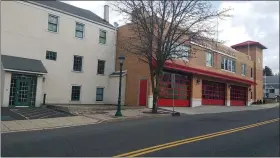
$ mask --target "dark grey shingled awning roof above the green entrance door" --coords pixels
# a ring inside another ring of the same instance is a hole
[[[4,70],[29,71],[33,73],[47,73],[41,60],[1,55]]]

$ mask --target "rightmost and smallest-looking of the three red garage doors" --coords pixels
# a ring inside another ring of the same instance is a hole
[[[230,88],[230,105],[231,106],[245,106],[247,88],[231,85]]]

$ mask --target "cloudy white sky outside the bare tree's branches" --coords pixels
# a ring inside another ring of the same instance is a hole
[[[88,9],[103,18],[105,1],[67,1],[66,3]],[[233,15],[219,22],[219,40],[227,46],[247,40],[257,41],[268,49],[263,51],[264,66],[279,72],[279,2],[278,1],[217,1],[213,6],[231,7]],[[123,24],[122,17],[110,10],[110,23]]]

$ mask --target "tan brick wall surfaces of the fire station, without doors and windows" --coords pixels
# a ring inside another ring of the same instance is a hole
[[[118,57],[120,54],[123,54],[126,57],[126,60],[124,62],[124,70],[127,70],[127,83],[126,83],[126,105],[138,105],[138,95],[139,95],[139,80],[140,79],[147,79],[148,80],[148,96],[152,95],[151,90],[151,83],[150,83],[150,75],[149,75],[149,66],[147,63],[139,60],[139,58],[135,55],[132,55],[131,53],[126,52],[124,49],[121,49],[119,46],[127,46],[126,40],[128,40],[129,37],[132,37],[134,33],[129,30],[129,25],[125,25],[119,28],[118,30],[118,36],[117,36],[117,55]],[[137,42],[137,41],[135,41]],[[176,64],[185,65],[187,67],[194,67],[199,68],[203,70],[208,70],[212,72],[217,72],[220,74],[224,74],[227,76],[237,77],[240,79],[247,79],[247,80],[255,80],[257,82],[256,86],[252,86],[252,92],[253,92],[253,99],[256,98],[261,99],[262,98],[262,51],[261,49],[251,47],[249,55],[248,49],[241,48],[240,50],[242,52],[235,51],[234,58],[236,59],[236,73],[228,72],[221,70],[221,59],[222,54],[212,52],[214,54],[214,65],[213,67],[206,66],[206,50],[199,46],[192,45],[192,49],[196,50],[195,54],[189,58],[189,61],[187,63],[183,62],[182,60],[177,60]],[[257,56],[261,56],[261,63],[257,64],[255,61],[257,60]],[[230,57],[229,57],[230,58]],[[117,59],[116,59],[117,60]],[[246,64],[246,75],[241,75],[241,64]],[[251,68],[253,68],[253,78],[251,77]],[[119,63],[118,60],[116,61],[116,70],[119,70]],[[196,77],[200,78],[200,84],[196,83]],[[217,78],[209,78],[205,76],[193,76],[192,79],[192,97],[193,98],[201,98],[202,96],[202,79],[207,80],[213,80],[213,81],[221,81],[223,83],[227,84],[237,84],[240,86],[246,86],[245,84],[240,84],[236,82],[228,82],[223,80],[217,80]],[[248,92],[248,100],[251,98],[250,92]],[[230,95],[227,90],[227,96]],[[148,98],[148,97],[147,97]]]

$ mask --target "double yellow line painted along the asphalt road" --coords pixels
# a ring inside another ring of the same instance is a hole
[[[196,142],[196,141],[200,141],[200,140],[204,140],[204,139],[209,139],[209,138],[213,138],[213,137],[217,137],[217,136],[221,136],[221,135],[225,135],[225,134],[242,131],[245,129],[265,125],[268,123],[273,123],[276,121],[279,121],[279,118],[268,120],[268,121],[263,121],[263,122],[259,122],[259,123],[255,123],[255,124],[251,124],[251,125],[246,125],[246,126],[242,126],[242,127],[237,127],[237,128],[233,128],[233,129],[229,129],[229,130],[224,130],[224,131],[220,131],[220,132],[215,132],[215,133],[210,133],[210,134],[201,135],[201,136],[197,136],[197,137],[178,140],[178,141],[165,143],[165,144],[161,144],[161,145],[156,145],[156,146],[120,154],[115,157],[136,157],[136,156],[148,154],[148,153],[155,152],[155,151],[159,151],[159,150],[163,150],[163,149],[167,149],[167,148],[171,148],[171,147],[175,147],[175,146],[179,146],[179,145],[183,145],[183,144],[188,144],[191,142]]]

